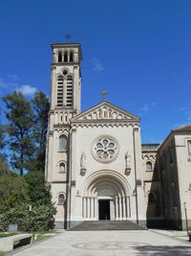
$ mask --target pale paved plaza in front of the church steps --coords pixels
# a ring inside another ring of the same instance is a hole
[[[149,230],[65,231],[16,256],[191,255],[191,244]]]

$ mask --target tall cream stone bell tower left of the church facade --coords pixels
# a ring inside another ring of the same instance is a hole
[[[46,179],[52,192],[57,180],[67,183],[71,141],[70,120],[80,112],[82,59],[79,43],[53,43],[51,107],[46,151]],[[65,186],[64,185],[64,186]],[[62,191],[66,191],[62,187]]]

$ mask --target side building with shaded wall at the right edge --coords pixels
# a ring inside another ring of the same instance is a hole
[[[172,130],[158,151],[165,225],[191,226],[191,126]]]

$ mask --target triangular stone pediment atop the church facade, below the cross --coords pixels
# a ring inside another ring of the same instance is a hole
[[[101,104],[93,106],[88,110],[81,112],[76,115],[71,121],[96,121],[96,120],[114,120],[114,121],[135,121],[138,122],[138,116],[133,115],[132,113],[117,107],[116,105],[110,104],[106,101],[103,101]]]

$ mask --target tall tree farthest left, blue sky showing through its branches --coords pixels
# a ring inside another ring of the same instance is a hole
[[[32,107],[21,92],[14,91],[11,95],[3,97],[3,101],[7,107],[6,116],[9,121],[7,131],[10,135],[8,142],[12,151],[11,165],[23,175],[24,170],[29,167],[34,150]]]

